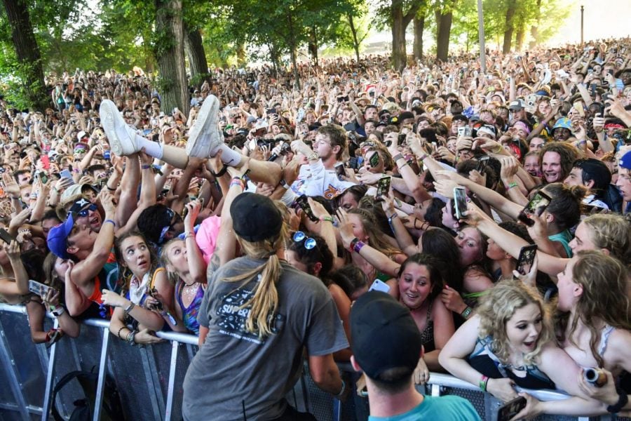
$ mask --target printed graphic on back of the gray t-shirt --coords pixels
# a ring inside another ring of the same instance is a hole
[[[258,275],[257,283],[248,283],[246,286],[243,286],[243,288],[232,290],[219,298],[219,305],[217,307],[217,317],[219,318],[217,326],[219,326],[219,333],[230,335],[240,340],[254,342],[259,345],[265,342],[265,337],[259,338],[257,333],[248,332],[245,328],[245,323],[247,322],[247,317],[250,316],[252,306],[247,305],[244,307],[244,305],[246,302],[250,301],[255,294],[255,291],[246,288],[248,286],[258,285],[259,281],[261,281],[261,274]],[[278,333],[285,323],[285,316],[282,314],[276,314],[276,316],[270,314],[268,319],[273,334]]]

